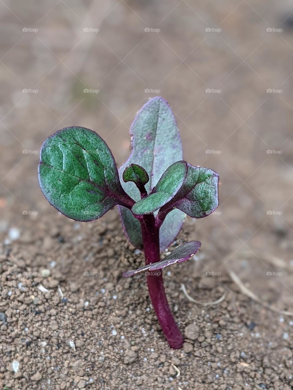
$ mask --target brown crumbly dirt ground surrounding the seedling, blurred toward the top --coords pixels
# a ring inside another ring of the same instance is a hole
[[[293,388],[293,317],[228,273],[293,311],[291,12],[285,0],[0,2],[0,388]],[[197,259],[164,271],[186,338],[178,351],[144,276],[121,276],[143,257],[117,211],[71,221],[36,174],[43,139],[72,125],[97,131],[122,164],[134,114],[155,95],[147,88],[171,103],[186,160],[221,181],[219,213],[187,219],[178,239],[202,242]],[[192,303],[181,284],[198,301],[225,299]]]

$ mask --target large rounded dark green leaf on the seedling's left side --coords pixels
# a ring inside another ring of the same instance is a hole
[[[82,127],[59,130],[45,140],[39,183],[57,210],[78,221],[100,218],[116,204],[133,204],[121,187],[110,149]]]

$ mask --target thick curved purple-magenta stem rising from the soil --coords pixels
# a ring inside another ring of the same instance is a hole
[[[159,228],[155,226],[154,215],[144,215],[139,220],[145,250],[145,264],[158,262],[160,261],[160,239]],[[162,270],[160,269],[156,273],[159,273],[159,275],[147,275],[150,299],[170,347],[179,349],[182,347],[183,337],[167,301]]]

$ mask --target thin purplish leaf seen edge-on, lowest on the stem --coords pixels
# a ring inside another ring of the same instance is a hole
[[[186,261],[200,250],[200,246],[201,244],[199,241],[189,241],[188,243],[184,243],[180,246],[177,246],[177,248],[175,248],[170,253],[170,255],[165,257],[164,260],[158,261],[156,263],[148,264],[147,266],[143,266],[138,269],[133,269],[131,271],[124,272],[123,276],[127,278],[129,276],[134,276],[137,275],[138,273],[145,272],[145,271],[157,271],[158,269],[168,267],[172,264]]]

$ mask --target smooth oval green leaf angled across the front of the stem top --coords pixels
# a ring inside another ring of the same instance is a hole
[[[170,165],[152,190],[152,193],[134,204],[131,209],[132,213],[134,215],[150,214],[164,206],[179,191],[186,179],[187,170],[185,161],[177,161]]]

